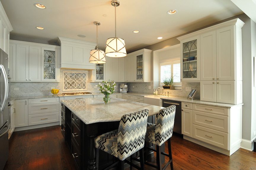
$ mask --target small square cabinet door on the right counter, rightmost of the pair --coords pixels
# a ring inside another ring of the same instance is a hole
[[[235,81],[217,81],[217,102],[235,103]]]

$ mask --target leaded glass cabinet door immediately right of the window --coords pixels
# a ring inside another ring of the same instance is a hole
[[[199,37],[181,41],[181,81],[200,81]]]

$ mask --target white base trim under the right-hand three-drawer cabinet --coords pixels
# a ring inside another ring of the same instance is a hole
[[[225,150],[223,148],[220,148],[220,147],[217,147],[217,146],[214,146],[214,145],[202,142],[200,140],[194,139],[192,137],[188,137],[186,135],[183,135],[183,139],[186,139],[186,140],[188,140],[190,142],[194,142],[194,143],[196,143],[198,145],[207,147],[207,148],[209,148],[211,150],[215,150],[216,152],[223,153],[224,155],[228,155],[228,156],[232,155],[234,152],[236,152],[241,147],[241,145],[239,143],[238,145],[234,146],[231,150]]]

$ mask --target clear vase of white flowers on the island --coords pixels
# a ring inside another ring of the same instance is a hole
[[[105,104],[108,104],[110,102],[110,94],[113,94],[113,92],[116,89],[116,83],[115,82],[110,82],[108,83],[107,81],[102,81],[103,84],[99,83],[98,86],[100,93],[104,94],[105,97],[103,97],[103,101]]]

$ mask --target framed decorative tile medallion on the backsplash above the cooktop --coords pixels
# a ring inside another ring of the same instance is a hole
[[[87,90],[87,71],[63,71],[63,91]]]

